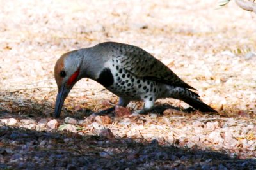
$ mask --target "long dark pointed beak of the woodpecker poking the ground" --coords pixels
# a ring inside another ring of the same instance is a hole
[[[66,85],[63,84],[61,86],[61,88],[58,90],[56,104],[55,104],[55,111],[54,111],[55,118],[58,118],[60,116],[61,108],[62,108],[64,101],[65,101],[66,97],[68,96],[68,93],[70,92],[71,88],[66,87]]]

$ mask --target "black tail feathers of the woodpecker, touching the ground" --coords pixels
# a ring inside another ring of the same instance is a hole
[[[199,110],[202,112],[218,113],[216,110],[212,109],[210,106],[200,101],[200,99],[195,99],[193,97],[184,97],[182,98],[182,101],[188,103],[190,106],[192,106],[196,110]]]

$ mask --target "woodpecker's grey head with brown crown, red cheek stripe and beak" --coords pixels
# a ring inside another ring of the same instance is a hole
[[[54,117],[58,118],[68,93],[82,77],[81,64],[83,55],[78,50],[63,54],[57,60],[54,68],[54,77],[58,86]]]

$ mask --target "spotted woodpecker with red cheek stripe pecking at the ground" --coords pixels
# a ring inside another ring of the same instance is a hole
[[[58,86],[56,118],[60,117],[68,93],[82,78],[95,80],[118,96],[118,106],[144,101],[143,110],[138,113],[145,113],[154,101],[164,98],[179,99],[201,112],[217,113],[163,62],[142,48],[125,43],[104,42],[64,53],[55,64],[54,77]],[[112,107],[101,113],[114,110]]]

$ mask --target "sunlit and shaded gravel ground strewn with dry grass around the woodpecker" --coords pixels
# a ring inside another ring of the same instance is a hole
[[[256,15],[233,1],[216,8],[198,0],[0,0],[0,169],[256,169]],[[118,98],[84,79],[55,120],[56,60],[104,41],[152,53],[218,114],[88,117]]]

